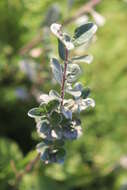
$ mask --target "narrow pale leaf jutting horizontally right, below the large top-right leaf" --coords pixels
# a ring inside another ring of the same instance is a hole
[[[83,55],[83,56],[76,56],[72,58],[73,62],[85,62],[87,64],[90,64],[93,61],[93,56],[92,55]]]

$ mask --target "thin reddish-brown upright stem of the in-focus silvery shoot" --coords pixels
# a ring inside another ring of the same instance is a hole
[[[68,50],[65,48],[65,62],[64,62],[64,72],[63,72],[63,80],[61,85],[61,106],[63,106],[63,100],[64,100],[64,85],[66,81],[66,70],[67,70],[67,63],[68,63]]]

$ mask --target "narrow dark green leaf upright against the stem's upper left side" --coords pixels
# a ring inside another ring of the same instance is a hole
[[[58,39],[58,52],[61,59],[66,59],[66,49],[65,45]]]

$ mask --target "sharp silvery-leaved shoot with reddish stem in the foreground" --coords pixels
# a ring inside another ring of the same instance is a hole
[[[62,31],[60,24],[50,27],[58,39],[60,61],[51,59],[51,68],[55,80],[60,85],[60,94],[50,90],[49,94],[40,96],[41,104],[33,108],[28,115],[35,119],[36,128],[42,142],[37,145],[37,151],[44,163],[63,163],[66,151],[64,144],[67,140],[75,140],[82,135],[79,113],[88,107],[94,107],[95,102],[89,98],[89,88],[84,88],[76,82],[81,70],[77,62],[90,63],[91,55],[70,57],[69,53],[80,45],[88,45],[97,30],[93,23],[84,24],[74,31],[71,38]],[[65,93],[72,98],[65,99]]]

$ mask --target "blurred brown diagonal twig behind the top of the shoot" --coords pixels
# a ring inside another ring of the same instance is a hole
[[[81,7],[79,10],[77,10],[76,14],[69,19],[65,20],[63,22],[63,25],[68,25],[71,22],[75,21],[78,17],[82,16],[85,13],[89,13],[91,9],[99,4],[101,0],[90,0],[88,3],[86,3],[83,7]],[[19,54],[21,56],[25,55],[27,52],[29,52],[33,47],[35,47],[38,43],[40,43],[43,38],[42,38],[42,29],[39,30],[38,35],[35,36],[31,42],[28,42],[23,48],[19,50]]]

